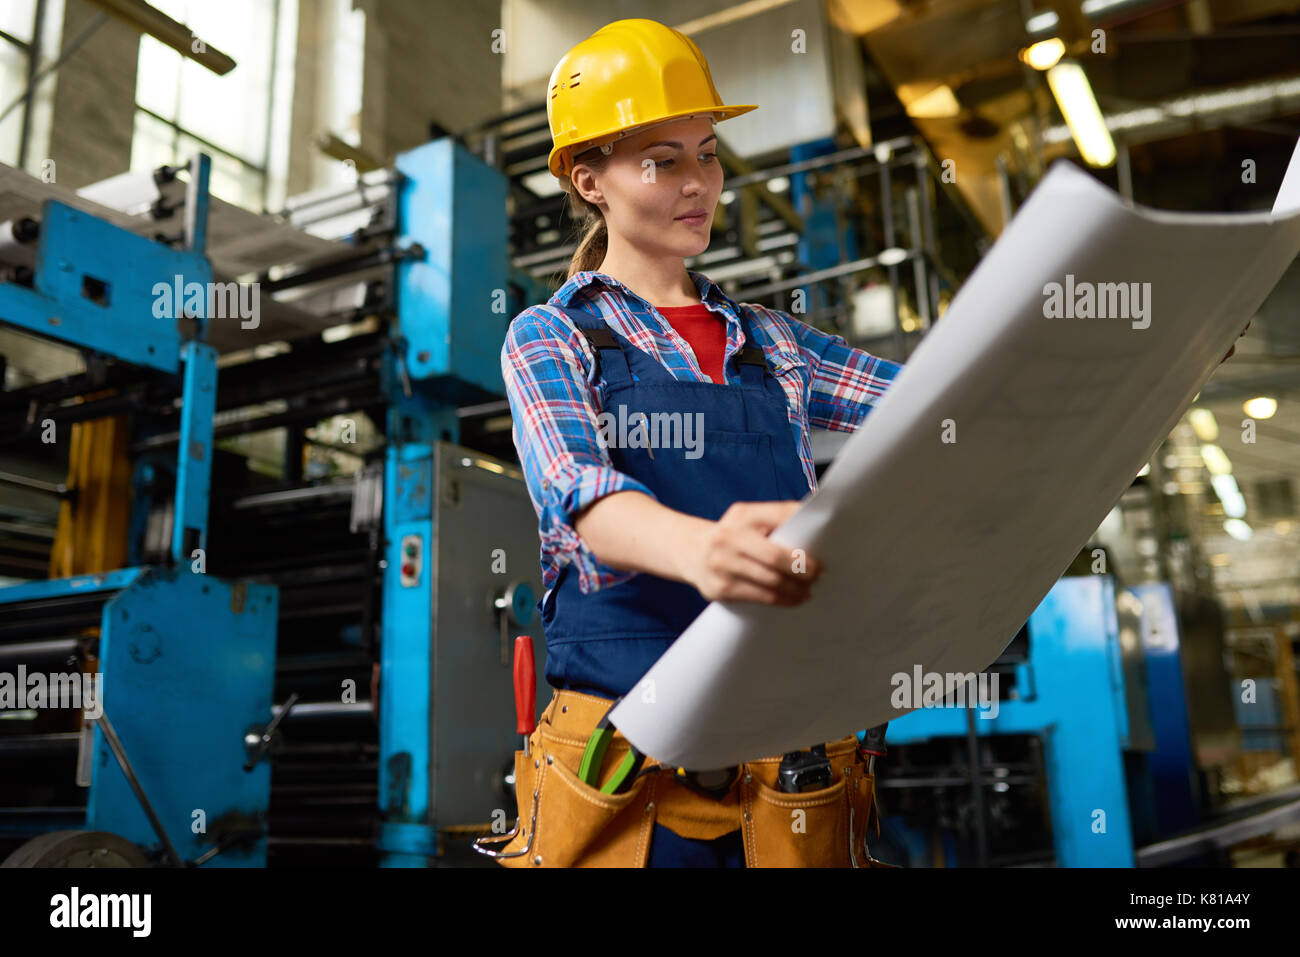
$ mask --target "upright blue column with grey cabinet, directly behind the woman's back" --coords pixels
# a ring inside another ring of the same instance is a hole
[[[387,443],[376,843],[385,866],[455,859],[448,837],[482,833],[514,806],[516,635],[534,640],[537,700],[546,701],[536,515],[523,475],[456,445],[467,407],[495,407],[500,417],[506,326],[538,295],[526,277],[507,282],[506,189],[502,173],[445,138],[399,155],[382,200],[396,250],[394,347],[380,371]],[[464,862],[478,863],[473,857]]]

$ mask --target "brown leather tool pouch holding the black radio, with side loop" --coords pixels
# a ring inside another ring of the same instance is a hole
[[[864,867],[872,779],[857,739],[827,746],[835,783],[785,793],[776,788],[780,758],[750,762],[741,775],[748,867]]]

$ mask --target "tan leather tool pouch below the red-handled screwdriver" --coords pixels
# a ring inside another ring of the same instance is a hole
[[[638,778],[621,794],[603,794],[578,780],[586,742],[540,724],[529,739],[532,754],[515,752],[519,833],[504,846],[506,867],[644,867],[654,824],[645,789],[654,775]],[[610,744],[606,766],[615,766],[627,742]]]

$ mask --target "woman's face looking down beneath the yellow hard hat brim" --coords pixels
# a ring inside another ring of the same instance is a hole
[[[708,248],[723,191],[712,118],[676,120],[620,139],[603,172],[578,164],[573,185],[601,207],[611,235],[651,255],[698,255]],[[692,218],[693,211],[703,215]]]

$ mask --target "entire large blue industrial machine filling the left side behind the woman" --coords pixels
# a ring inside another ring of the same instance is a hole
[[[534,638],[546,701],[536,515],[517,467],[484,451],[510,442],[506,326],[546,298],[508,267],[507,179],[439,139],[291,205],[287,225],[212,200],[228,246],[205,247],[207,170],[191,165],[183,204],[160,187],[166,218],[151,209],[134,229],[47,202],[32,276],[0,286],[0,321],[143,369],[129,531],[140,567],[0,589],[0,661],[90,667],[98,653],[107,700],[95,774],[72,787],[70,763],[25,767],[31,787],[0,793],[0,837],[42,835],[16,854],[26,863],[87,846],[129,859],[138,845],[162,862],[254,866],[428,866],[459,862],[459,848],[490,866],[468,845],[514,807],[517,635]],[[182,205],[185,235],[157,235]],[[260,261],[240,244],[259,230]],[[207,289],[250,272],[260,329],[205,322],[202,308],[155,317],[157,282]],[[320,334],[348,324],[363,330]],[[179,377],[172,397],[151,371]],[[35,410],[39,423],[86,391],[4,398],[12,419]],[[78,416],[124,402],[84,395]],[[343,476],[304,467],[308,446],[329,447],[309,432],[330,416],[377,433],[342,449],[360,459]],[[235,446],[272,429],[283,452],[266,477]],[[358,694],[372,661],[377,707]],[[79,740],[5,735],[0,759]],[[104,833],[88,844],[55,828]]]

